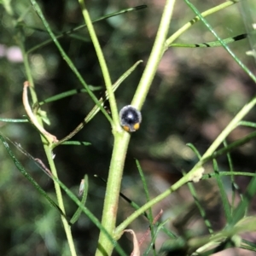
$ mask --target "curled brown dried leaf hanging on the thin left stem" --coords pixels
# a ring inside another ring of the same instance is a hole
[[[29,83],[28,83],[28,81],[26,81],[24,83],[23,95],[22,95],[22,102],[23,102],[24,108],[26,110],[27,116],[31,120],[32,124],[37,127],[38,131],[40,131],[42,134],[45,135],[45,137],[48,139],[49,143],[57,143],[58,142],[57,137],[55,137],[54,135],[50,134],[48,131],[45,131],[44,127],[39,124],[38,119],[36,118],[34,113],[32,113],[32,109],[31,109],[31,107],[29,105],[28,97],[27,97],[27,87],[28,86],[29,86]]]

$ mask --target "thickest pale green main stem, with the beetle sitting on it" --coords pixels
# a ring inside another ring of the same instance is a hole
[[[154,74],[156,73],[160,59],[164,53],[165,41],[172,18],[172,9],[174,3],[174,0],[166,1],[166,6],[160,21],[160,28],[154,42],[152,53],[148,59],[147,67],[145,68],[145,71],[143,73],[143,78],[141,79],[133,101],[131,102],[131,104],[138,109],[143,106],[143,102],[145,101],[145,98],[148,94],[150,84],[154,79]],[[106,228],[109,234],[115,236],[116,233],[114,232],[114,230],[116,223],[116,214],[118,210],[119,190],[123,174],[125,154],[128,143],[130,141],[130,134],[125,131],[113,132],[113,136],[113,155],[109,167],[106,197],[102,213],[102,225]],[[115,238],[119,237],[115,236]],[[109,241],[108,237],[101,231],[96,256],[110,255],[112,251],[113,244]]]

